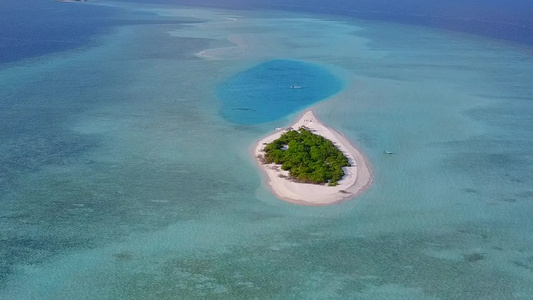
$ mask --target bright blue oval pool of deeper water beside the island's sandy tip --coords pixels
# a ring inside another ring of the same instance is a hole
[[[320,66],[276,59],[235,75],[218,88],[221,114],[237,124],[275,121],[324,100],[342,82]]]

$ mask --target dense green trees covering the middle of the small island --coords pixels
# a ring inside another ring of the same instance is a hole
[[[304,183],[337,185],[348,158],[333,143],[302,127],[289,130],[265,146],[264,163],[281,165],[292,179]]]

